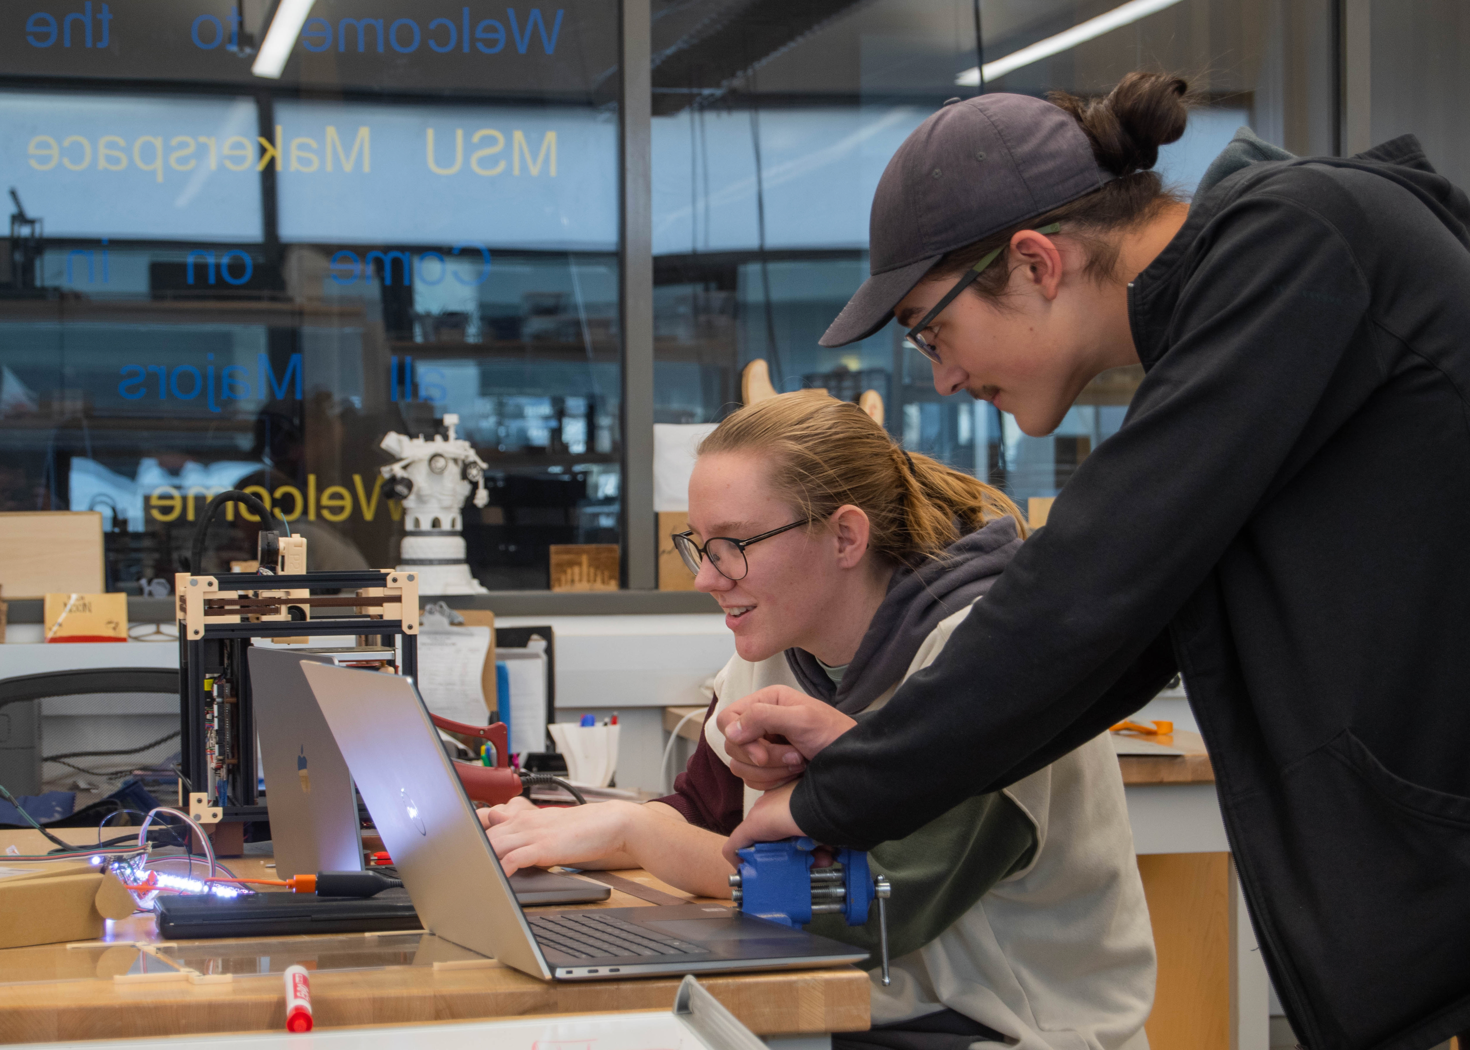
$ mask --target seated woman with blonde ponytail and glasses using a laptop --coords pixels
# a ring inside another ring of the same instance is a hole
[[[1026,532],[1003,493],[906,451],[820,391],[714,428],[689,481],[689,526],[676,543],[725,609],[735,656],[675,794],[481,810],[507,869],[645,868],[728,897],[725,835],[760,793],[731,771],[719,710],[784,687],[848,721],[878,712],[985,603]],[[894,885],[892,985],[872,982],[873,1031],[833,1035],[833,1047],[1147,1050],[1152,934],[1107,734],[956,801],[870,854]],[[876,916],[848,928],[823,915],[810,929],[870,950],[876,966]]]

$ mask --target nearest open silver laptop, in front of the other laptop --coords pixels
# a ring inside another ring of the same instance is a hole
[[[797,969],[867,957],[848,944],[713,904],[528,918],[413,681],[315,663],[301,671],[431,934],[559,981]]]

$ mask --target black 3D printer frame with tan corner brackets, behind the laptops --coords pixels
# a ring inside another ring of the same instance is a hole
[[[340,591],[313,594],[312,591]],[[245,650],[251,638],[357,635],[397,644],[398,674],[419,672],[419,574],[392,569],[175,576],[179,626],[179,772],[225,821],[265,819]],[[312,619],[313,609],[343,610]],[[181,785],[181,796],[182,796]]]

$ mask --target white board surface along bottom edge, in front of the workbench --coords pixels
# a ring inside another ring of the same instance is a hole
[[[28,1047],[56,1050],[56,1043]],[[682,1018],[664,1012],[603,1013],[537,1021],[441,1022],[382,1028],[319,1028],[253,1035],[173,1035],[138,1040],[88,1040],[91,1047],[159,1050],[707,1050]],[[15,1050],[25,1050],[16,1047]]]

